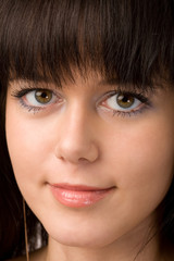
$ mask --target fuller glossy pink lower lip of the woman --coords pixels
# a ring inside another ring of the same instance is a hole
[[[71,208],[84,208],[91,206],[107,197],[112,188],[103,190],[71,190],[50,186],[53,197],[62,204]]]

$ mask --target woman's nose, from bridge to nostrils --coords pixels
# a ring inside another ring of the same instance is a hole
[[[82,108],[65,112],[55,146],[55,157],[59,160],[79,164],[92,163],[98,159],[99,147],[95,140],[96,133],[91,122],[89,114]]]

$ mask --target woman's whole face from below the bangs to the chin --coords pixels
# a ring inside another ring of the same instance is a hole
[[[95,74],[62,89],[10,83],[14,174],[53,239],[94,247],[147,232],[173,177],[173,104],[172,90],[144,94]]]

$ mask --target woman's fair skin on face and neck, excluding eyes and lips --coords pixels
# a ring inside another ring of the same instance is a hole
[[[157,89],[148,94],[147,110],[113,116],[105,92],[117,86],[91,73],[63,89],[42,84],[62,99],[34,113],[13,97],[20,86],[27,83],[9,86],[7,140],[18,187],[49,234],[37,260],[133,261],[156,227],[156,209],[173,177],[174,92]],[[114,189],[75,209],[54,199],[52,183]],[[154,237],[137,260],[163,260],[158,254]]]

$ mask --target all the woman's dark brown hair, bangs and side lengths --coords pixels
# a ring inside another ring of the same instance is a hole
[[[120,84],[156,88],[160,78],[173,88],[174,1],[0,0],[0,260],[25,251],[22,196],[5,142],[8,83],[41,79],[61,86],[75,80],[74,70],[85,77],[88,69]],[[173,246],[173,184],[163,202],[161,243]],[[35,249],[39,221],[29,209],[27,222]],[[44,228],[41,235],[45,245]]]

